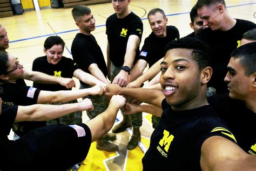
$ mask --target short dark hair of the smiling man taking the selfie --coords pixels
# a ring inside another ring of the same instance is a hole
[[[166,45],[165,54],[170,49],[176,48],[191,49],[193,60],[198,63],[199,70],[210,66],[211,49],[205,44],[204,41],[192,37],[184,37],[178,40],[173,40]]]

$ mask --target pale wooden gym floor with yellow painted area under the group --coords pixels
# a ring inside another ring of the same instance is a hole
[[[144,39],[151,33],[151,28],[147,21],[147,12],[153,8],[161,8],[169,18],[169,25],[174,25],[180,32],[180,37],[191,33],[189,12],[196,0],[132,0],[129,9],[136,13],[143,20],[144,32],[140,48]],[[255,23],[256,1],[255,0],[226,0],[228,11],[233,18],[250,20]],[[89,6],[96,18],[96,30],[92,32],[98,41],[99,46],[105,56],[107,37],[105,34],[105,21],[113,12],[112,4],[99,4]],[[72,58],[71,44],[78,32],[78,28],[71,15],[72,9],[43,9],[41,11],[27,11],[23,15],[0,18],[10,39],[8,52],[18,57],[26,68],[31,68],[32,62],[38,56],[43,56],[44,40],[50,35],[59,35],[66,43],[64,56]],[[221,38],[220,38],[221,41]],[[79,82],[76,80],[77,88]],[[29,86],[32,82],[27,81]],[[87,120],[84,112],[83,121]],[[122,120],[122,115],[118,113],[115,124]],[[117,134],[114,144],[119,145],[118,152],[104,152],[96,149],[96,143],[91,144],[89,154],[84,161],[85,165],[79,170],[142,170],[141,160],[146,149],[149,147],[150,136],[153,131],[151,126],[151,115],[143,113],[142,142],[139,147],[128,151],[126,145],[129,141],[132,130],[127,130]]]

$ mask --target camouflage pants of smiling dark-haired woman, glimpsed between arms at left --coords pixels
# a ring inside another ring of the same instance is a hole
[[[53,103],[53,104],[60,105],[60,104],[70,104],[70,103],[77,103],[77,100],[66,102],[66,103]],[[81,124],[81,123],[82,123],[81,111],[72,112],[63,117],[46,121],[47,125],[52,125],[52,124],[73,125],[73,124]]]

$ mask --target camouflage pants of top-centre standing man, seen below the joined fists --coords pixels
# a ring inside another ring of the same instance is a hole
[[[121,67],[114,66],[113,63],[111,62],[111,69],[110,69],[110,81],[112,82],[114,80],[114,77],[120,72]],[[131,98],[127,98],[127,101],[129,103],[132,102]],[[142,112],[135,113],[134,115],[124,115],[124,118],[128,118],[131,120],[132,126],[135,128],[138,128],[142,126]]]

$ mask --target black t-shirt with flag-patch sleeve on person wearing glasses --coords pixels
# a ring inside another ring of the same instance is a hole
[[[2,85],[2,103],[5,105],[32,105],[37,104],[39,92],[41,90],[29,86],[19,86],[15,83],[4,83]],[[18,136],[23,136],[31,130],[45,126],[45,121],[40,122],[19,122],[15,123],[13,131]]]

